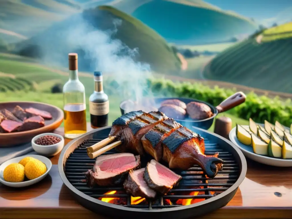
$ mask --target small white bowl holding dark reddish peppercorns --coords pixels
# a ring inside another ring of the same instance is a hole
[[[60,142],[54,144],[54,145],[37,145],[36,143],[34,143],[36,141],[36,139],[41,138],[45,135],[53,135],[56,136],[58,138],[61,139]],[[44,156],[54,156],[56,154],[58,154],[64,147],[64,138],[62,135],[58,135],[55,133],[43,133],[40,135],[36,135],[33,139],[32,139],[32,148],[38,152],[38,154],[44,155]]]

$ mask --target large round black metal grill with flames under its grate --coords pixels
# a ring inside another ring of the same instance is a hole
[[[85,172],[93,167],[95,159],[88,157],[86,148],[107,138],[110,129],[110,126],[99,128],[69,142],[58,162],[64,184],[82,206],[95,213],[115,218],[199,216],[225,206],[246,175],[246,160],[235,145],[219,135],[193,128],[205,139],[205,154],[219,152],[219,158],[224,161],[223,170],[215,178],[207,178],[197,165],[186,171],[175,171],[183,177],[179,185],[153,201],[131,197],[122,185],[90,188],[86,184]],[[112,149],[104,154],[112,153],[117,152]],[[142,158],[141,167],[151,159],[150,156]]]

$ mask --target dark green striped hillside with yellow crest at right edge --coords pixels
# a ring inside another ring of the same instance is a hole
[[[217,55],[206,79],[292,93],[292,22],[265,30]]]

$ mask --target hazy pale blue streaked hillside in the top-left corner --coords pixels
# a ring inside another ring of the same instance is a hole
[[[80,10],[74,0],[1,0],[0,29],[32,36]]]

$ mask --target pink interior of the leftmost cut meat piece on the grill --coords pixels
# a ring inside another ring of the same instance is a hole
[[[110,158],[99,165],[100,170],[105,172],[123,172],[125,169],[130,169],[134,166],[136,166],[134,156]]]

